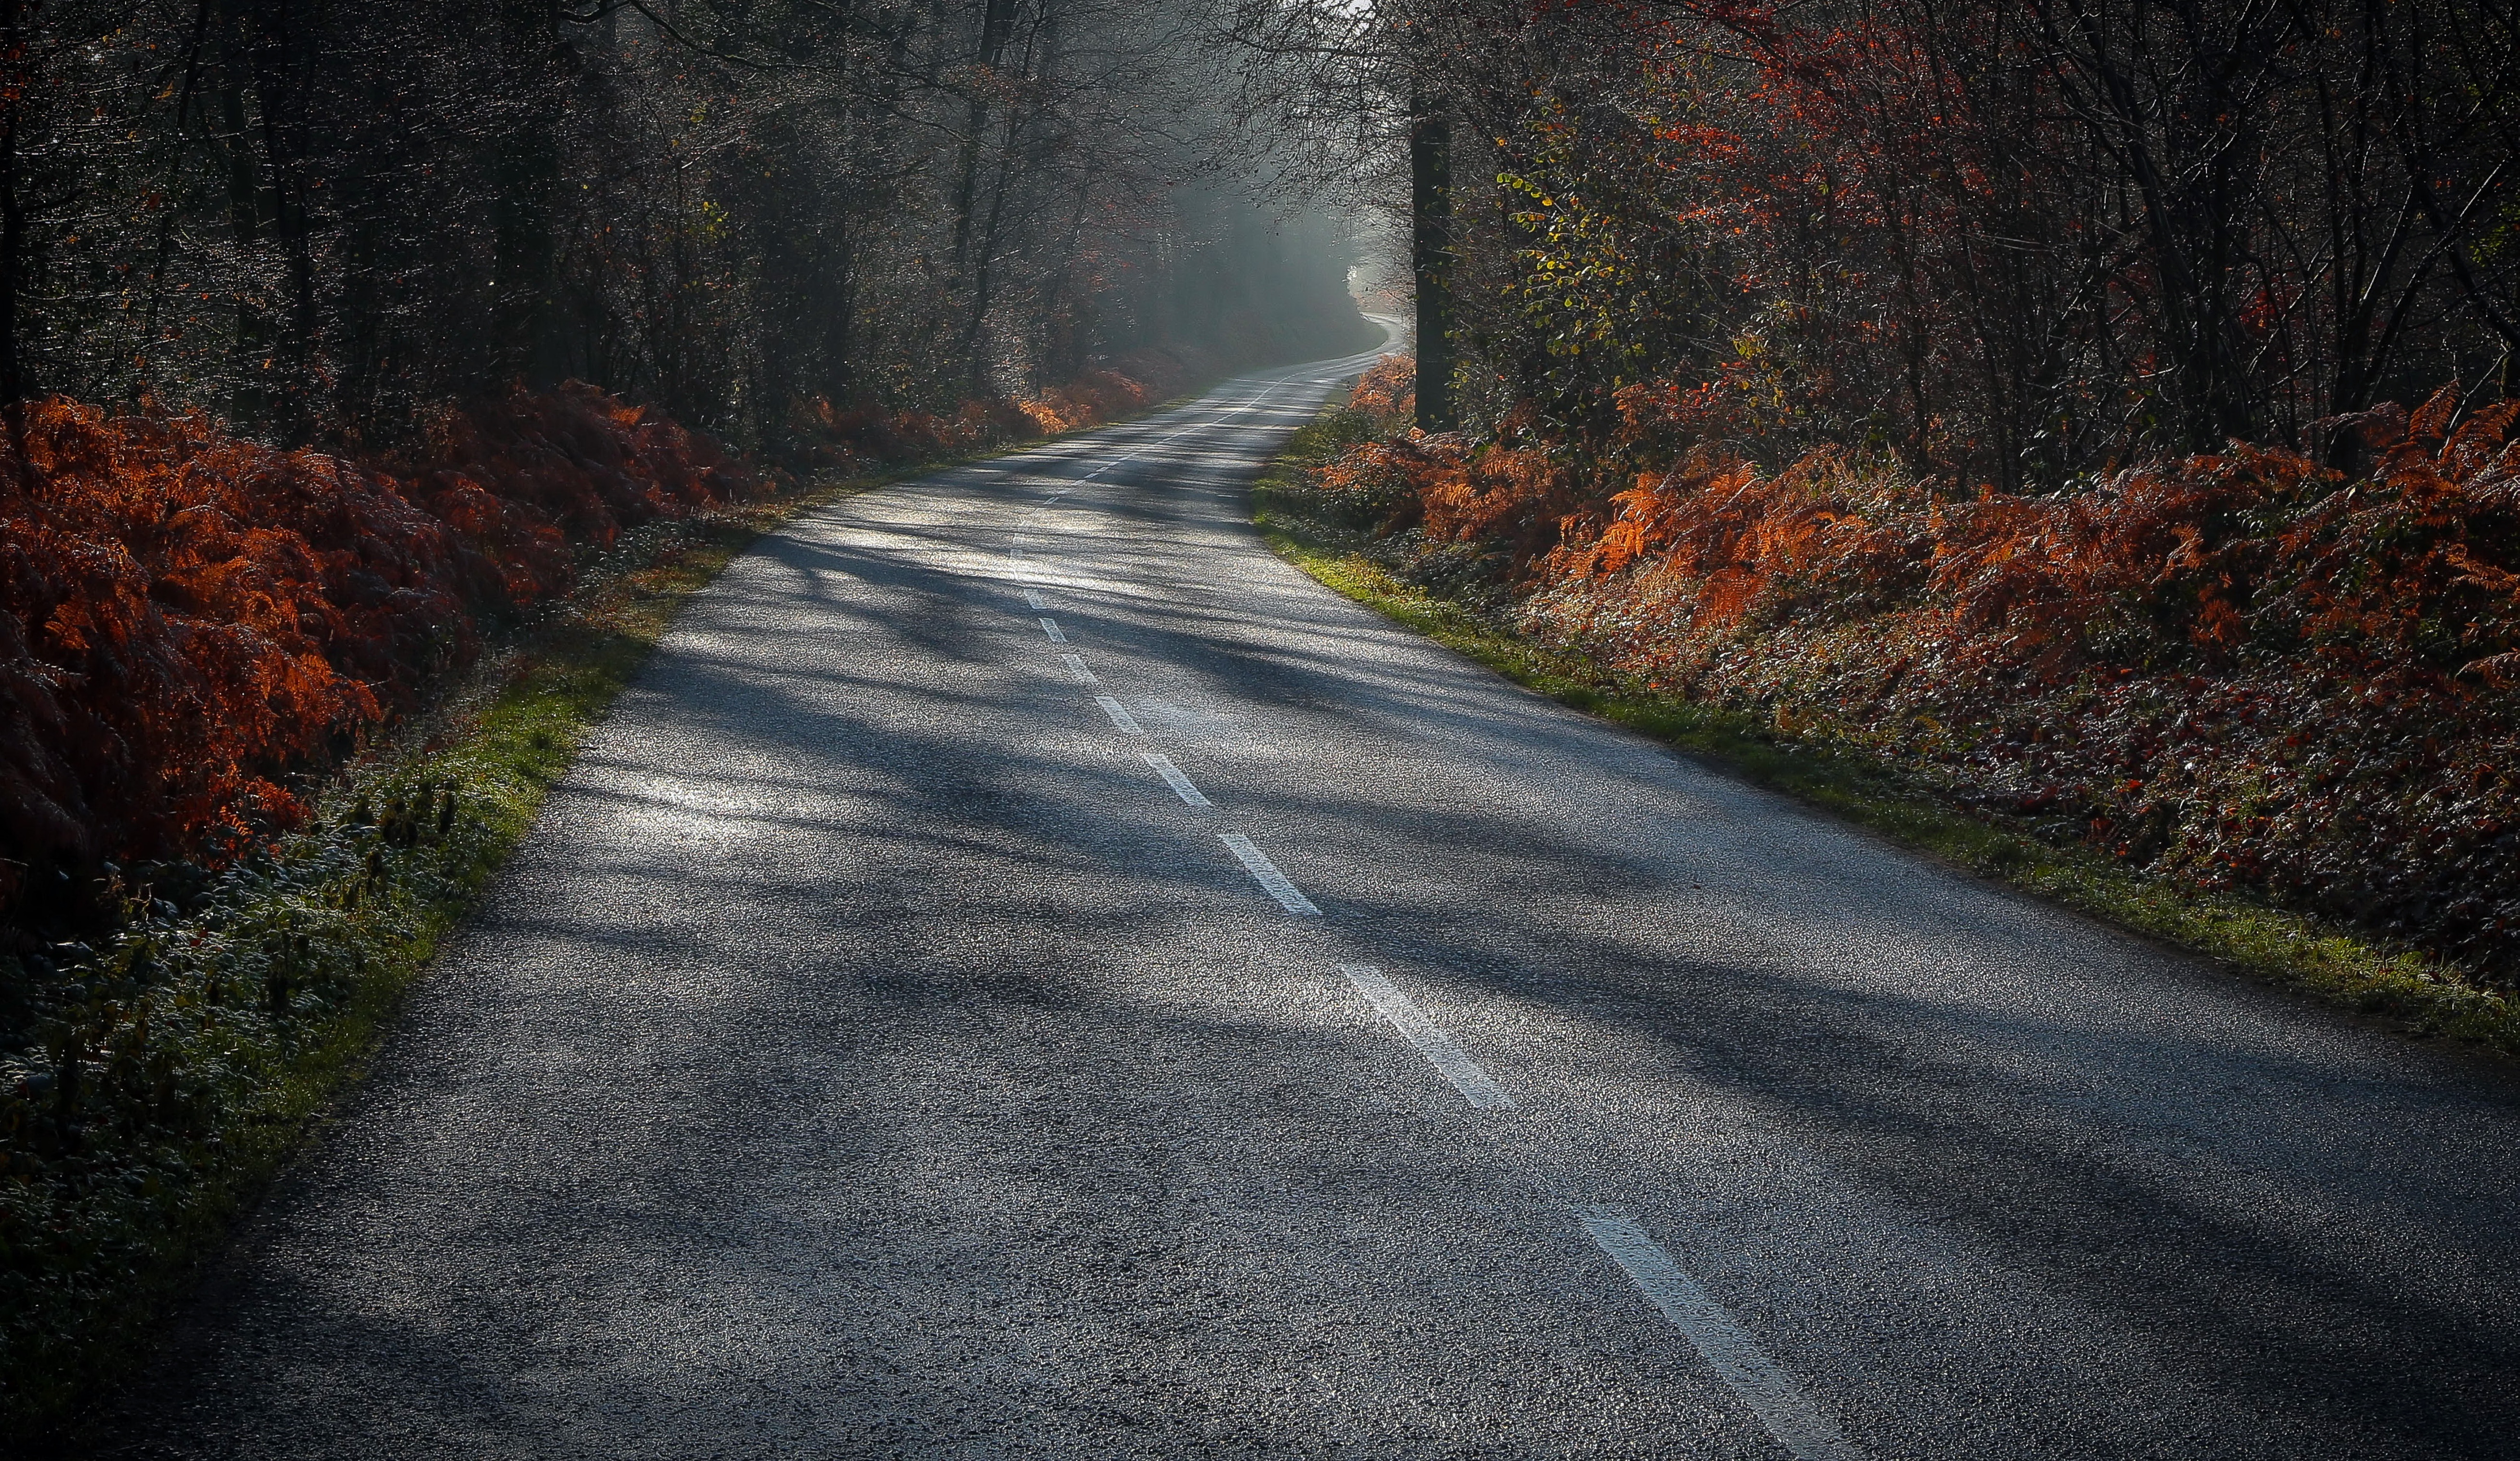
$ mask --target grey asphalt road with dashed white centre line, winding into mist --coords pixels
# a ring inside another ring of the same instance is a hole
[[[733,564],[129,1453],[2520,1453],[2507,1076],[1315,587],[1358,365]]]

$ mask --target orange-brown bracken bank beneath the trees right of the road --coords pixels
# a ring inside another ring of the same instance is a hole
[[[2515,426],[2442,390],[2339,423],[2364,471],[2233,446],[2039,496],[1704,446],[1608,509],[1540,448],[1409,436],[1318,494],[1419,554],[1484,547],[1530,632],[1656,688],[2507,980]]]

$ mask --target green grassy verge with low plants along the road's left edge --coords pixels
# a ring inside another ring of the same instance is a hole
[[[1187,401],[1149,406],[1147,413]],[[98,1401],[365,1073],[675,612],[761,534],[887,481],[625,534],[577,589],[184,907],[134,894],[71,1000],[0,1055],[0,1451],[81,1453]]]

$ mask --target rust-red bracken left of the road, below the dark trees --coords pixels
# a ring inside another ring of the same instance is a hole
[[[292,824],[290,771],[567,589],[577,549],[756,486],[587,385],[446,411],[391,463],[30,406],[0,448],[0,904]]]

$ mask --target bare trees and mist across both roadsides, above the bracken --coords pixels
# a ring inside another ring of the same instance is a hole
[[[774,443],[816,401],[1326,350],[1376,209],[1441,285],[1436,426],[1457,393],[2029,486],[2328,451],[2381,398],[2497,395],[2520,343],[2520,30],[2477,0],[0,0],[0,390],[275,441],[575,375]]]

